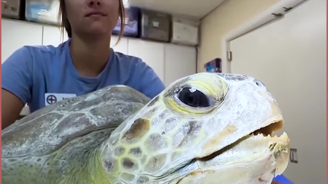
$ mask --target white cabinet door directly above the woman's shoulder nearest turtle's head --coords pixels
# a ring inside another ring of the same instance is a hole
[[[164,44],[141,39],[128,39],[128,54],[142,59],[164,81]]]

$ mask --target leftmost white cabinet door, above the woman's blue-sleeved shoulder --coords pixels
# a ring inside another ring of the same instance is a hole
[[[26,45],[42,45],[42,25],[1,19],[1,64],[17,49]]]

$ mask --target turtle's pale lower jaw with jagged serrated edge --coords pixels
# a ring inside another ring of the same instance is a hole
[[[289,161],[289,138],[251,134],[224,149],[197,159],[195,168],[179,184],[271,184]],[[174,182],[173,182],[174,183]]]

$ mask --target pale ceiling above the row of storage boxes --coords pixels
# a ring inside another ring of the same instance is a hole
[[[125,0],[129,6],[201,19],[224,0]]]

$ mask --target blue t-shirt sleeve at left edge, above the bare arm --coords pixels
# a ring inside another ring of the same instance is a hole
[[[31,100],[33,60],[27,47],[17,49],[1,65],[1,88],[17,96],[24,104]]]

